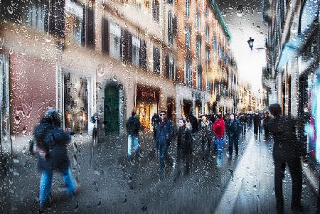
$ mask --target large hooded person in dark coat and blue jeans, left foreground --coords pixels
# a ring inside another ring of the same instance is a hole
[[[62,173],[63,182],[69,194],[75,193],[78,184],[70,171],[67,144],[70,134],[63,132],[60,115],[55,109],[48,109],[45,117],[34,128],[34,139],[37,147],[38,170],[41,172],[39,203],[41,206],[48,202],[53,171]]]

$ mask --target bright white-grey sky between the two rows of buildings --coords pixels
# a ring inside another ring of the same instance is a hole
[[[262,88],[262,67],[265,66],[265,50],[256,49],[265,47],[267,26],[262,23],[261,1],[234,0],[217,1],[223,18],[231,34],[230,48],[238,63],[240,80],[249,82],[252,92],[257,93]],[[242,5],[242,16],[237,14]],[[253,50],[250,50],[247,40],[255,39]]]

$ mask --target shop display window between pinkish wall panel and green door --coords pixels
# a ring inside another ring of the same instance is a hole
[[[64,74],[65,128],[71,132],[86,132],[88,120],[89,77],[73,73]]]

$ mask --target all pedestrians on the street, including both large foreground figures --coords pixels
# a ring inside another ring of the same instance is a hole
[[[270,113],[269,113],[270,112]],[[228,141],[226,156],[232,159],[239,155],[239,139],[246,137],[247,129],[253,126],[256,139],[264,132],[265,139],[272,139],[274,158],[274,188],[277,199],[278,213],[284,210],[282,196],[282,180],[284,169],[289,167],[292,176],[292,210],[301,210],[302,195],[302,165],[301,158],[306,156],[303,141],[304,133],[301,127],[307,119],[299,121],[292,117],[284,117],[279,105],[270,105],[269,112],[255,112],[255,114],[200,114],[198,119],[192,114],[178,119],[177,125],[167,117],[166,111],[154,114],[151,119],[153,127],[154,151],[159,158],[159,173],[164,176],[164,168],[174,168],[176,163],[176,176],[181,176],[182,167],[184,175],[190,173],[193,156],[205,156],[216,152],[217,166],[222,166],[223,144]],[[272,114],[272,117],[270,117]],[[95,114],[92,123],[95,124],[92,132],[92,141],[97,140],[99,117]],[[134,154],[139,153],[139,130],[141,124],[136,112],[127,120],[127,157],[132,157],[132,144]],[[300,127],[300,128],[299,128]],[[35,127],[31,141],[30,151],[38,157],[38,169],[41,173],[39,203],[41,206],[50,203],[50,191],[53,173],[59,172],[63,176],[65,190],[74,195],[78,193],[78,183],[70,171],[67,145],[70,142],[70,132],[61,127],[60,114],[55,109],[48,109],[41,122]],[[199,140],[200,147],[196,148],[195,141]],[[260,138],[261,139],[261,138]],[[176,141],[176,161],[169,154],[169,148]],[[213,148],[211,150],[211,148]],[[198,151],[198,152],[196,152]]]

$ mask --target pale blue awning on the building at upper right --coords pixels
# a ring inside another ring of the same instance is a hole
[[[300,18],[301,33],[295,34],[289,38],[289,41],[282,48],[277,69],[283,68],[289,61],[299,54],[299,50],[309,40],[313,33],[314,22],[319,18],[319,3],[314,0],[306,0],[302,15]]]

